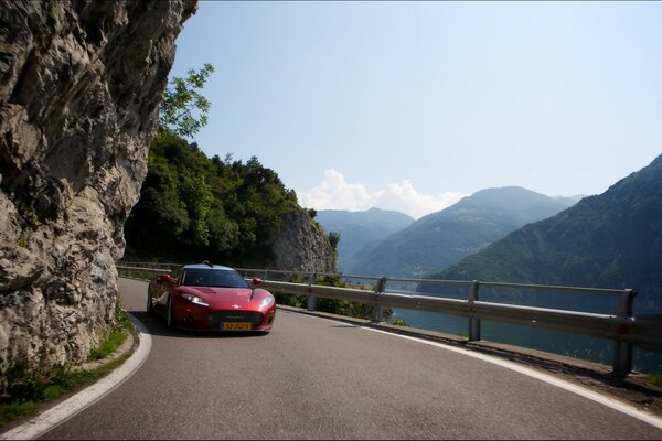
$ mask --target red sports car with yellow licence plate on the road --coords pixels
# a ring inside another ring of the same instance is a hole
[[[261,331],[274,326],[276,299],[250,284],[234,269],[185,265],[174,276],[159,276],[149,283],[147,312],[166,318],[168,327],[200,331]]]

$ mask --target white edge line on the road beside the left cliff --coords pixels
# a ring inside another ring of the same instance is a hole
[[[121,366],[94,385],[83,389],[65,401],[62,401],[60,405],[52,407],[22,426],[0,434],[0,440],[32,440],[39,438],[49,430],[74,417],[86,407],[100,400],[116,387],[129,379],[142,363],[145,363],[151,351],[151,335],[148,333],[147,329],[138,319],[130,314],[129,318],[140,333],[140,343],[136,352]]]

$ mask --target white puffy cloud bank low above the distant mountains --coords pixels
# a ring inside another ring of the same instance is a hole
[[[330,169],[324,171],[324,179],[320,185],[299,194],[299,201],[301,205],[314,209],[357,212],[377,207],[419,218],[441,211],[465,196],[466,194],[458,192],[421,194],[414,189],[414,184],[408,179],[370,192],[364,184],[350,183],[341,173]]]

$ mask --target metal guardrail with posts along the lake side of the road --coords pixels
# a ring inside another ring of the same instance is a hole
[[[131,277],[135,275],[170,272],[174,263],[128,263],[117,265],[118,270]],[[439,312],[459,315],[468,320],[468,341],[481,338],[481,320],[506,322],[524,326],[544,327],[572,334],[588,335],[613,341],[615,375],[626,376],[632,369],[632,348],[639,346],[648,351],[662,353],[662,315],[632,314],[632,303],[636,292],[631,289],[609,290],[579,287],[559,287],[543,284],[457,281],[457,280],[430,280],[430,279],[387,279],[369,276],[333,275],[333,273],[308,273],[301,271],[280,271],[268,269],[237,268],[246,278],[259,277],[263,287],[289,294],[302,294],[308,297],[308,309],[316,309],[317,298],[346,300],[352,302],[369,303],[375,305],[373,322],[382,321],[384,308],[403,308]],[[339,288],[316,284],[320,277],[332,277],[351,280],[360,283],[362,280],[370,281],[366,289]],[[275,279],[296,279],[297,282]],[[301,282],[306,280],[306,282]],[[387,282],[404,283],[435,283],[442,286],[460,287],[467,290],[466,299],[446,297],[420,295],[412,291],[388,292]],[[517,304],[504,304],[485,302],[479,300],[479,288],[508,288],[508,289],[542,289],[546,291],[563,291],[588,294],[611,295],[618,298],[618,311],[616,314],[601,314],[591,312],[579,312],[560,309],[547,309],[525,306]]]

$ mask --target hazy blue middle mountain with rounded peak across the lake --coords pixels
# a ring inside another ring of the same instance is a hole
[[[572,204],[519,186],[488,189],[416,220],[378,244],[367,244],[348,265],[356,275],[424,277],[457,263],[524,224]]]

